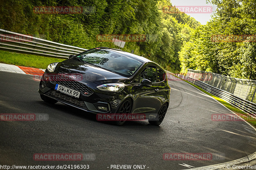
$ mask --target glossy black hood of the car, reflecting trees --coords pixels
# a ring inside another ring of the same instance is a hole
[[[89,80],[98,85],[116,83],[121,80],[129,79],[111,71],[76,61],[74,59],[67,59],[58,63],[56,71],[61,74],[74,75],[75,77],[78,77],[79,81],[83,82],[83,80]]]

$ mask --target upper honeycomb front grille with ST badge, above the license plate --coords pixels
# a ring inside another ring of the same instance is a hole
[[[50,79],[51,80],[51,79]],[[82,95],[84,96],[90,96],[93,92],[92,90],[87,86],[87,85],[84,85],[83,83],[80,83],[78,81],[75,81],[75,80],[51,80],[51,83],[52,84],[59,84],[59,85],[63,85],[63,86],[66,86],[68,88],[71,88],[73,90],[76,90],[76,91],[79,91],[81,92]]]

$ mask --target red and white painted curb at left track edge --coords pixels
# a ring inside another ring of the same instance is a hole
[[[42,76],[45,70],[0,63],[0,71]]]

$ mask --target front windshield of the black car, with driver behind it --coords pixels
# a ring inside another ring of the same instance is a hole
[[[95,48],[76,57],[82,62],[97,65],[124,77],[131,77],[142,65],[142,62],[137,59],[106,49]]]

